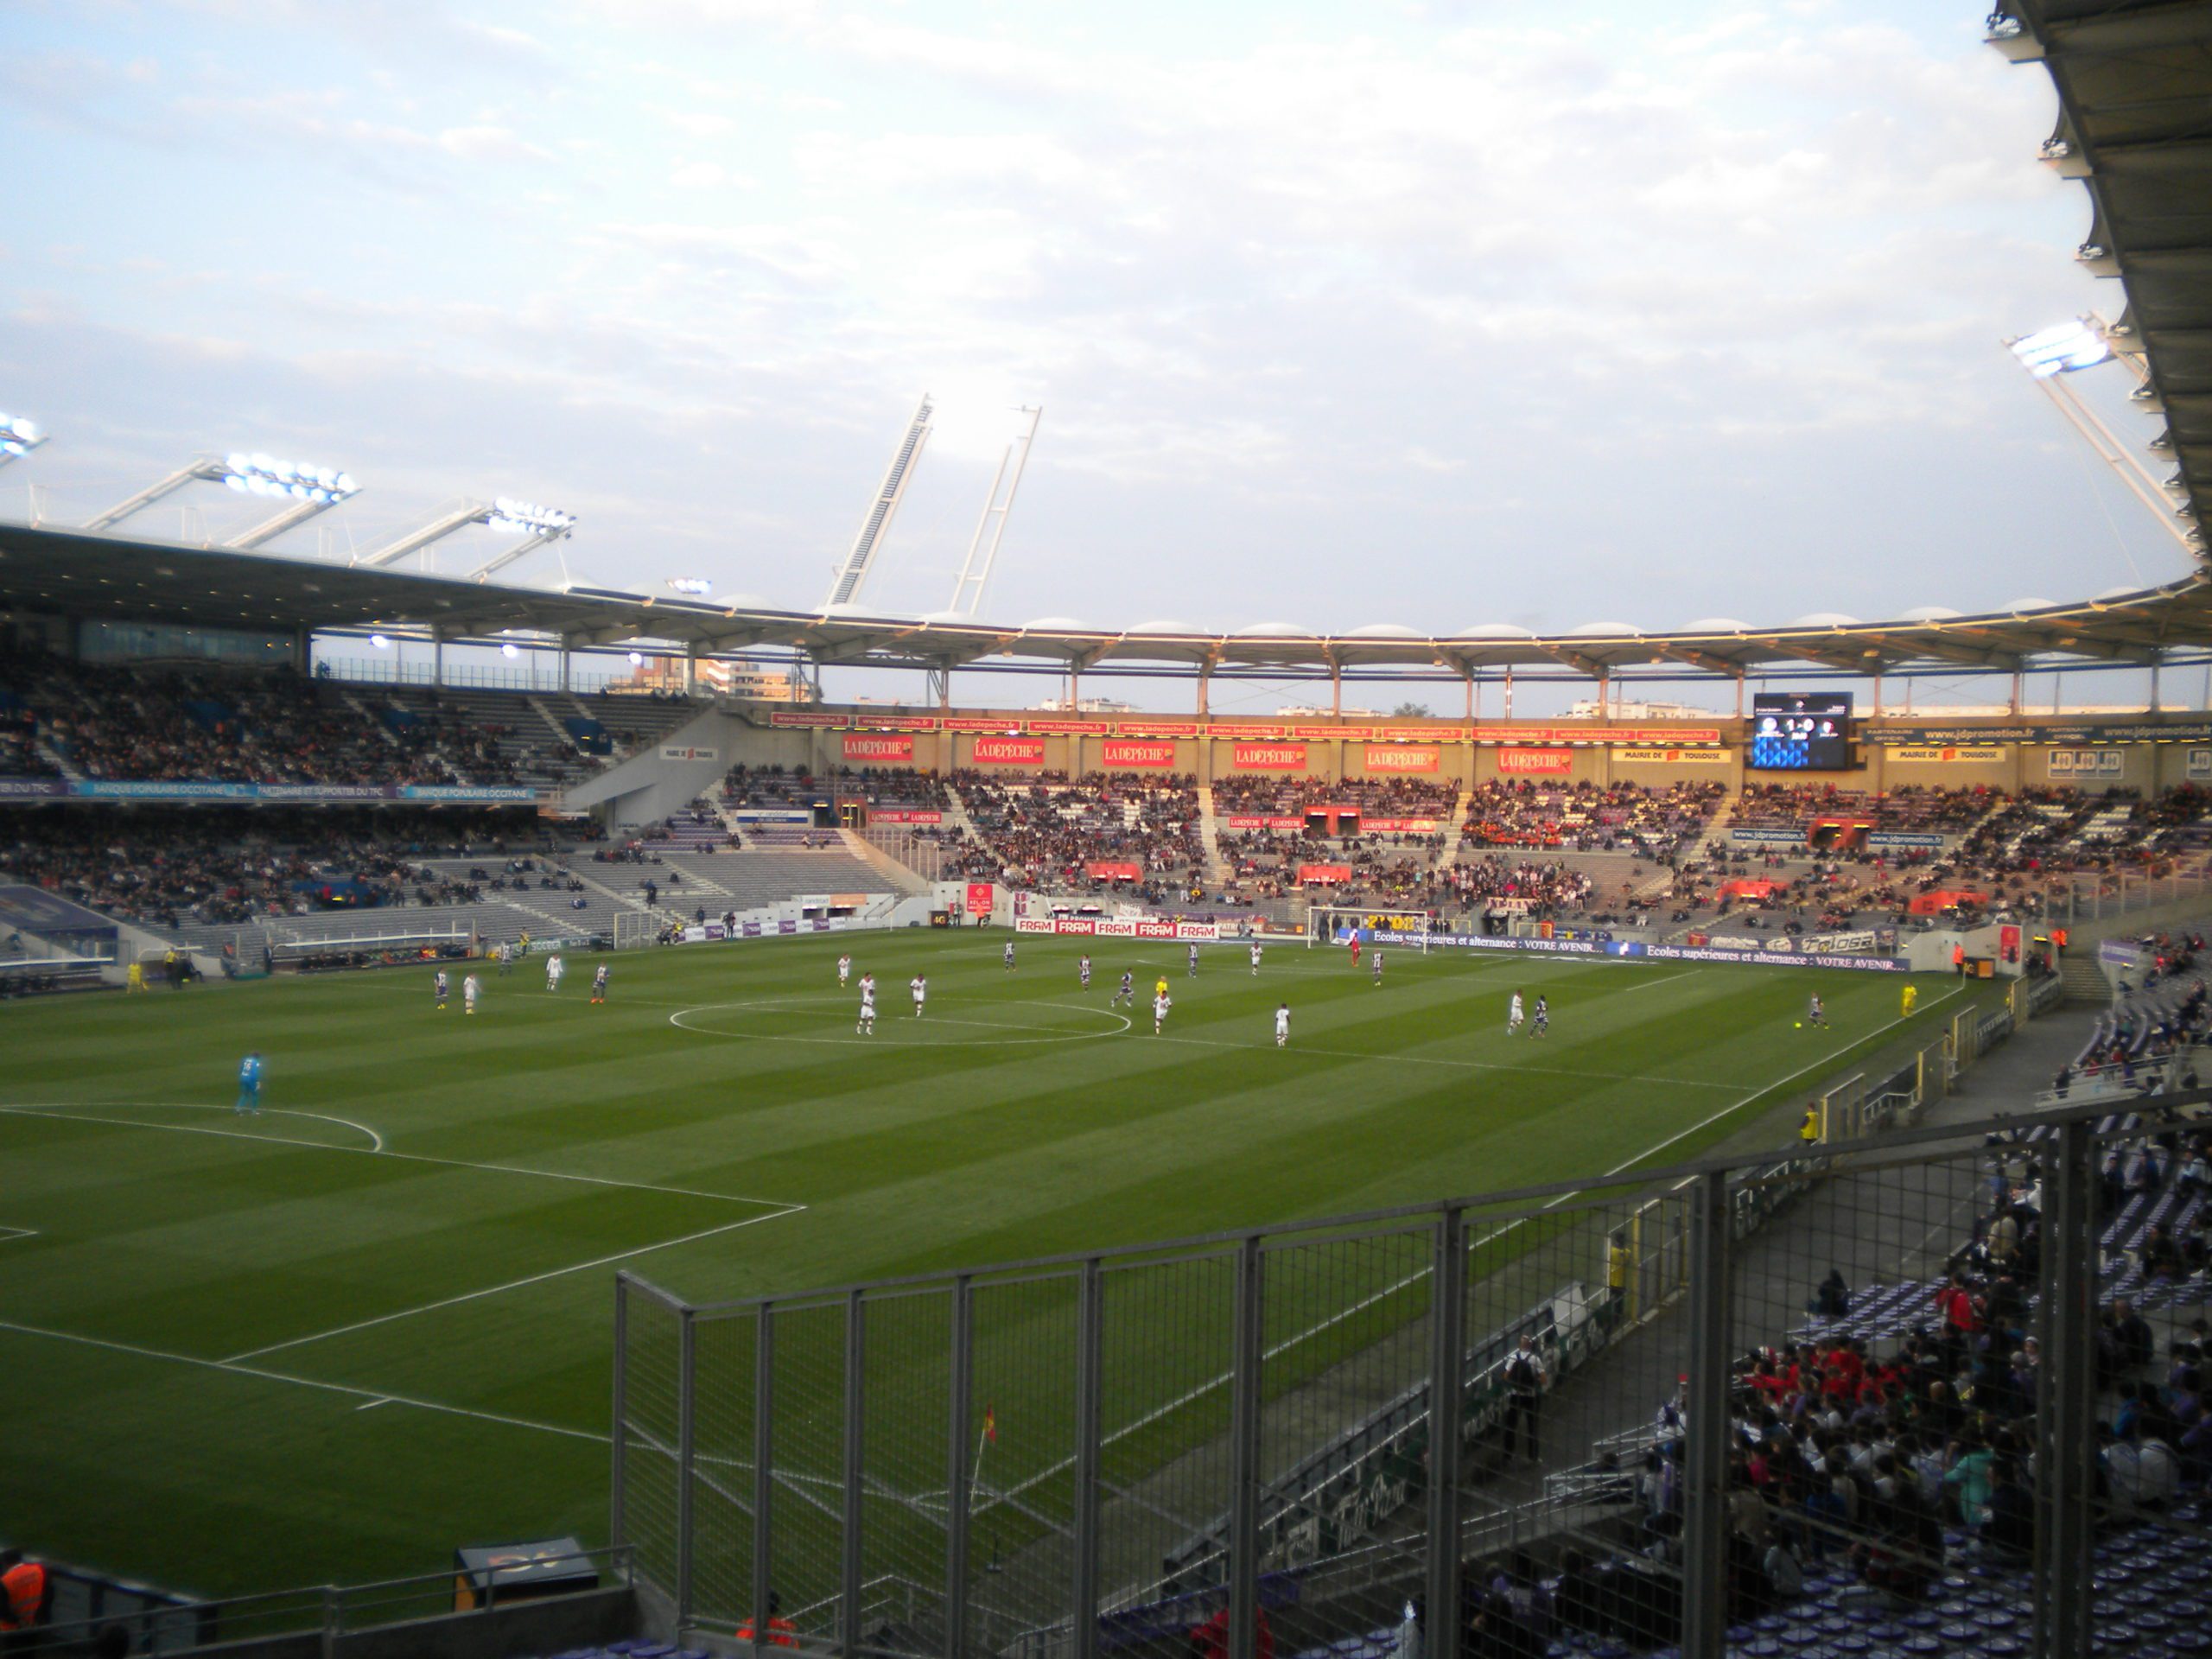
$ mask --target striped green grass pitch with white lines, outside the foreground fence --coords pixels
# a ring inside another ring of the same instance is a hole
[[[0,1531],[206,1595],[597,1542],[619,1265],[741,1296],[1617,1172],[1909,1035],[1847,971],[1391,951],[1378,989],[1095,940],[1086,993],[1077,940],[1006,973],[1002,938],[628,953],[602,1009],[593,958],[560,995],[487,969],[473,1018],[429,969],[0,1009]],[[1124,969],[1168,975],[1166,1037],[1108,1009]],[[1812,991],[1834,1031],[1794,1029]]]

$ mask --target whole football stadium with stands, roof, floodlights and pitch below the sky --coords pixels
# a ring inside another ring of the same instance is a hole
[[[2212,4],[1984,31],[2179,575],[1006,626],[931,398],[818,604],[33,482],[0,1650],[2212,1652]]]

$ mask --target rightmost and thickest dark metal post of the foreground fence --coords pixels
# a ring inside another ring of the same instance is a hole
[[[2035,1655],[2090,1652],[2097,1480],[2097,1146],[2088,1121],[2064,1124],[2044,1159],[2044,1385],[2035,1405]],[[2044,1509],[2048,1504],[2048,1509]]]

